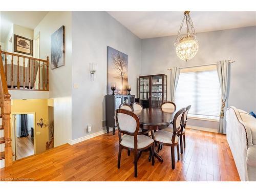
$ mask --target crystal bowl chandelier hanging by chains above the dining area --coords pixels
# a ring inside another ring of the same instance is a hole
[[[186,18],[187,34],[182,36],[179,40],[180,31],[183,27],[184,20]],[[180,29],[177,34],[177,38],[173,44],[176,47],[177,56],[184,61],[190,60],[198,52],[198,41],[196,40],[195,28],[192,19],[189,15],[189,11],[184,12],[184,17],[182,19]]]

